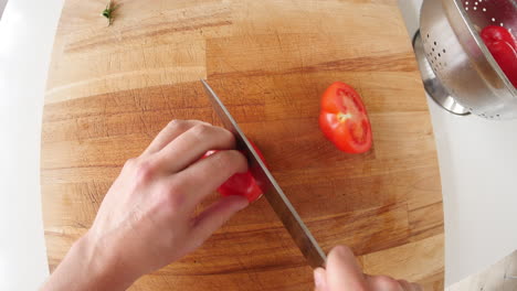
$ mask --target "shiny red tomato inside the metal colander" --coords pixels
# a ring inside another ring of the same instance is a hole
[[[483,29],[481,36],[500,69],[517,88],[517,42],[511,33],[505,28],[489,25]]]

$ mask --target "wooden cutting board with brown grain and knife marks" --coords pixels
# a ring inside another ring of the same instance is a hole
[[[41,183],[53,270],[92,225],[123,163],[171,119],[219,123],[208,78],[316,239],[369,273],[443,290],[440,174],[422,82],[395,0],[67,0],[50,67]],[[362,96],[373,149],[318,128],[335,80]],[[208,205],[217,194],[205,202]],[[312,269],[266,200],[133,290],[312,290]]]

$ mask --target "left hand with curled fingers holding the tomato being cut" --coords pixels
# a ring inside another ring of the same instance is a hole
[[[75,290],[122,290],[201,246],[249,204],[242,196],[221,197],[193,217],[203,198],[236,172],[247,170],[244,155],[231,150],[234,146],[233,134],[225,129],[196,120],[171,121],[141,155],[126,162],[92,228],[49,280],[46,287],[54,287],[49,290],[70,287],[52,284],[53,280],[74,283],[74,270],[86,272],[76,280],[95,281],[75,281],[74,288],[84,287]],[[224,151],[200,160],[209,150]]]

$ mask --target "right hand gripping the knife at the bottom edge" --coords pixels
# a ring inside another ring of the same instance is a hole
[[[326,269],[314,270],[316,291],[420,291],[422,288],[405,280],[362,273],[354,252],[346,246],[330,250]]]

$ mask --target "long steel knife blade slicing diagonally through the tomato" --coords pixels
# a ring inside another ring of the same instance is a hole
[[[250,172],[257,182],[257,185],[261,187],[264,196],[270,202],[273,211],[276,213],[295,244],[298,246],[305,259],[313,268],[324,267],[327,258],[313,234],[304,224],[295,207],[291,204],[270,170],[267,170],[265,164],[262,162],[261,158],[253,149],[250,141],[244,136],[221,99],[219,99],[217,94],[204,79],[201,79],[201,83],[203,84],[212,107],[221,119],[224,128],[235,136],[238,149],[242,150],[246,155]]]

